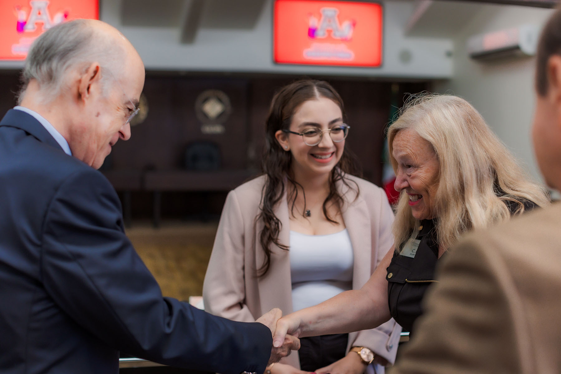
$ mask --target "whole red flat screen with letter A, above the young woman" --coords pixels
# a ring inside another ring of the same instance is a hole
[[[273,59],[280,64],[378,67],[383,9],[351,1],[275,0]]]

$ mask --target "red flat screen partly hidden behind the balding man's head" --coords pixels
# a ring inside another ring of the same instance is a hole
[[[0,60],[23,60],[45,30],[77,18],[99,19],[98,0],[2,0]]]

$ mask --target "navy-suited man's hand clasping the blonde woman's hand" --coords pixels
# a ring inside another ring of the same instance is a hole
[[[286,323],[280,322],[277,325],[280,317],[282,317],[282,311],[279,308],[273,308],[255,321],[269,327],[273,335],[273,348],[271,348],[271,357],[269,358],[268,365],[286,357],[290,354],[291,350],[300,349],[298,334],[296,332],[293,333],[294,335],[287,334],[289,327]],[[277,329],[277,326],[279,329]]]

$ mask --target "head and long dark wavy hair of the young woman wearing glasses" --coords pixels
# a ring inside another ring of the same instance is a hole
[[[274,215],[275,204],[288,192],[292,214],[303,214],[294,210],[298,193],[304,193],[306,197],[298,181],[314,178],[329,184],[323,211],[329,221],[335,222],[326,207],[342,202],[336,183],[347,184],[345,173],[360,174],[355,160],[344,150],[349,129],[344,118],[341,96],[325,81],[296,81],[282,87],[273,96],[266,121],[262,163],[267,182],[259,217],[264,222],[260,242],[266,255],[261,274],[269,268],[270,243],[287,249],[278,241],[280,222]]]

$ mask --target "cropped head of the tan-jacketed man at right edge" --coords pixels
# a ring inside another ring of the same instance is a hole
[[[532,137],[546,183],[561,189],[561,8],[544,26],[537,47]]]

